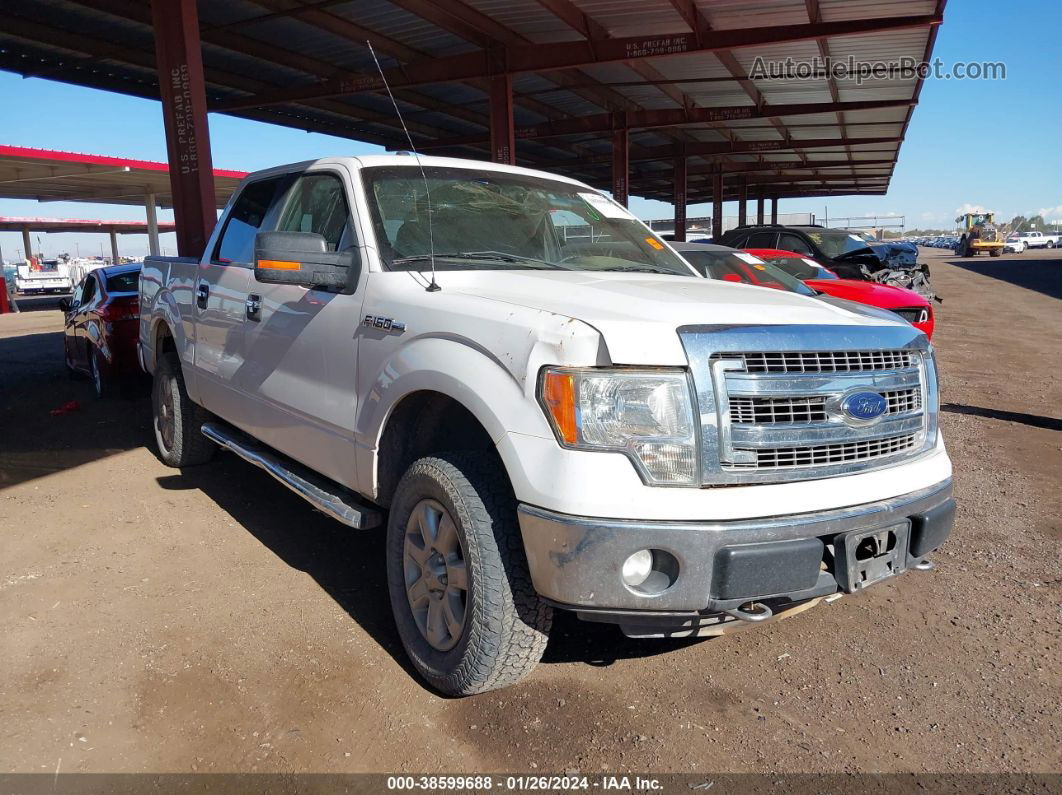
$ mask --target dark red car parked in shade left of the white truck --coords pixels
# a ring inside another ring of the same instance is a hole
[[[136,340],[140,326],[140,265],[92,271],[59,299],[66,314],[63,352],[73,374],[92,379],[97,397],[114,394],[139,374]]]

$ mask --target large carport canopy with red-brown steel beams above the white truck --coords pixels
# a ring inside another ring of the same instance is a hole
[[[768,79],[756,58],[925,62],[945,2],[20,0],[0,68],[161,92],[171,160],[190,145],[208,174],[207,109],[408,148],[371,41],[418,148],[545,167],[683,215],[724,198],[743,215],[759,198],[761,218],[764,197],[884,193],[923,81]],[[178,226],[212,223],[199,178]]]

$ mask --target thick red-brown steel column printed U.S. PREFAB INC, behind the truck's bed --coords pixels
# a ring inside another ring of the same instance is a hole
[[[218,220],[195,0],[152,0],[177,253],[199,257]]]

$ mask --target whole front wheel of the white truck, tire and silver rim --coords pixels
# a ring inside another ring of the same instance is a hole
[[[481,453],[413,462],[388,521],[391,609],[406,653],[449,695],[513,685],[542,659],[552,610],[535,593],[512,489]]]

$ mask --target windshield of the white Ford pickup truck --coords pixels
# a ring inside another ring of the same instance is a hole
[[[416,166],[361,173],[389,270],[427,270],[433,247],[440,271],[695,275],[641,222],[588,188],[475,169],[426,168],[426,180]]]

